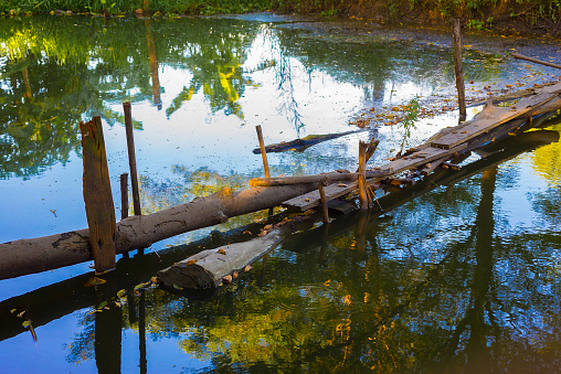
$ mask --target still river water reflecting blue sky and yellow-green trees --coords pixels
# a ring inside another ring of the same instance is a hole
[[[273,143],[371,118],[367,131],[269,154],[273,175],[309,174],[356,168],[358,141],[372,136],[381,146],[371,164],[394,154],[402,132],[377,114],[415,96],[427,110],[453,105],[447,32],[299,21],[314,20],[2,19],[0,242],[87,226],[78,122],[94,115],[120,201],[126,100],[145,214],[261,177],[256,125]],[[559,75],[505,58],[516,50],[559,63],[557,41],[466,34],[464,44],[468,97]],[[456,115],[420,120],[409,145]],[[1,280],[0,372],[554,372],[560,130],[552,121],[473,156],[455,184],[416,186],[415,200],[382,202],[396,207],[381,216],[334,216],[207,299],[135,286],[241,241],[235,227],[264,214],[120,259],[97,291],[84,287],[91,264]],[[28,311],[36,342],[13,308]]]

